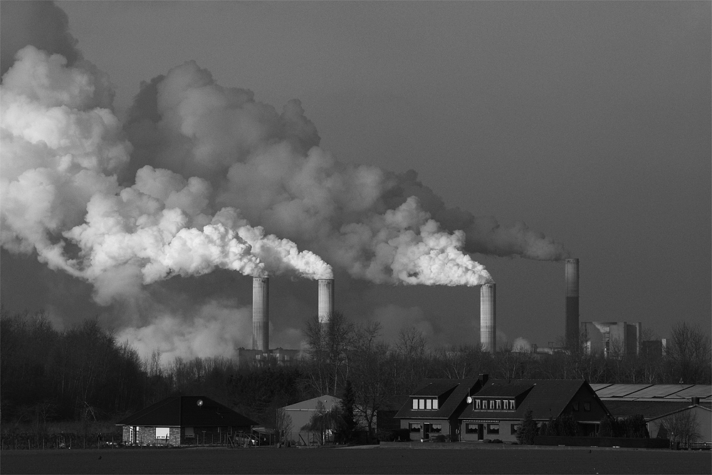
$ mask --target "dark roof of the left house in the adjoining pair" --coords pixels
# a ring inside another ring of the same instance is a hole
[[[423,391],[443,390],[441,394],[450,392],[446,400],[439,404],[438,409],[413,409],[410,398],[394,416],[397,419],[449,419],[466,404],[466,397],[474,394],[479,388],[480,381],[477,378],[466,378],[463,380],[436,379],[424,380],[422,385],[411,396],[425,396]],[[430,389],[428,389],[430,387]],[[435,395],[439,396],[439,395]]]

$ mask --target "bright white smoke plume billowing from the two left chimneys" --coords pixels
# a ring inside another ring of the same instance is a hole
[[[266,235],[224,207],[211,212],[205,179],[150,166],[121,188],[115,172],[131,145],[112,115],[103,77],[67,67],[33,46],[1,86],[1,241],[97,288],[99,303],[136,282],[196,276],[216,267],[248,276],[329,278],[331,269],[288,239]],[[78,246],[75,259],[66,248]]]

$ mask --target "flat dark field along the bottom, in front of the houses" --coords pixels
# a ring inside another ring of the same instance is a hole
[[[2,451],[2,474],[710,474],[708,451],[100,449]]]

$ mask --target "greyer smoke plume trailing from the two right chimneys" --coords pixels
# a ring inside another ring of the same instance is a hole
[[[447,209],[409,172],[346,165],[318,147],[298,101],[278,113],[224,88],[190,61],[145,83],[126,127],[132,167],[195,174],[216,203],[375,283],[476,286],[491,277],[464,251],[560,259],[562,246],[524,224],[502,229]]]

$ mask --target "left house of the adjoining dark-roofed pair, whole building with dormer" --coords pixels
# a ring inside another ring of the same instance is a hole
[[[424,380],[395,418],[400,419],[402,429],[409,430],[411,440],[428,440],[438,435],[458,440],[459,412],[467,404],[467,397],[480,386],[481,380],[476,378]]]

